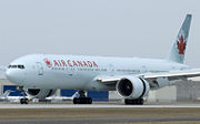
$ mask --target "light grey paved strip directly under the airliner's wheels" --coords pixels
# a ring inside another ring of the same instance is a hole
[[[91,104],[91,105],[74,105],[74,104],[0,104],[0,108],[172,108],[172,107],[197,107],[200,104],[170,104],[170,105],[112,105],[112,104]]]

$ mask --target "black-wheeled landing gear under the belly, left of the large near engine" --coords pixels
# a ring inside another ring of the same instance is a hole
[[[92,104],[92,99],[86,96],[84,91],[79,91],[79,97],[73,99],[73,104]]]

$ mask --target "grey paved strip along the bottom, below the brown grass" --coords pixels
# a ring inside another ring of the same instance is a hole
[[[156,122],[200,121],[200,117],[93,117],[93,118],[42,118],[42,120],[0,120],[3,124],[100,124],[100,123],[156,123]]]

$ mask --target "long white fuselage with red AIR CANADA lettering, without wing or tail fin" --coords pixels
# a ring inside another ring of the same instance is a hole
[[[188,66],[167,60],[83,55],[30,54],[17,59],[7,70],[8,79],[27,87],[114,90],[97,82],[98,76],[137,75],[184,70]],[[19,69],[12,65],[23,65]]]

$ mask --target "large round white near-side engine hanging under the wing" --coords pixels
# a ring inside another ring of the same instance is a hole
[[[124,99],[141,99],[147,96],[150,91],[149,83],[136,76],[121,79],[118,81],[116,89],[118,94]]]

